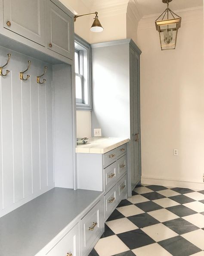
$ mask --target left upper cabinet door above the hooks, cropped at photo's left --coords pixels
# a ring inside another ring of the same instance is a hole
[[[4,28],[45,46],[44,0],[3,0]]]

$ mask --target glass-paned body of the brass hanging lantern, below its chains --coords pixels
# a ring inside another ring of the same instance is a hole
[[[178,29],[181,27],[181,17],[155,21],[155,25],[159,32],[161,50],[175,49]]]

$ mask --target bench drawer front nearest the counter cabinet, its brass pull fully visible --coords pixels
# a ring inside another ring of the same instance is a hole
[[[102,204],[99,201],[81,220],[81,255],[86,255],[102,232]]]

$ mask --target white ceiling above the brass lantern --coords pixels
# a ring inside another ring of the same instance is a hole
[[[141,16],[162,13],[167,4],[162,3],[162,0],[136,0]],[[173,0],[169,3],[171,10],[181,10],[186,8],[203,6],[203,0]]]

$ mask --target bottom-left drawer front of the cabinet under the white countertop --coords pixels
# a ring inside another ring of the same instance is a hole
[[[117,205],[117,185],[115,185],[105,196],[104,196],[104,207],[105,207],[105,220],[110,216],[112,210]]]

